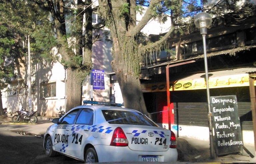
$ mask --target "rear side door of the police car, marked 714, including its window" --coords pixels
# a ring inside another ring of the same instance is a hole
[[[83,150],[90,135],[90,127],[93,125],[94,112],[89,108],[82,108],[75,124],[69,132],[69,151],[76,157],[83,156]]]

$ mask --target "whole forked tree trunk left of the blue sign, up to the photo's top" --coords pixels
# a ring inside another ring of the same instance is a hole
[[[65,26],[65,1],[47,1],[51,8],[52,17],[54,18],[55,30],[58,38],[58,49],[62,57],[62,63],[67,69],[67,105],[66,112],[82,104],[82,81],[91,72],[91,49],[92,49],[92,9],[88,6],[91,0],[83,2],[77,1],[77,14],[75,23],[77,31],[73,34],[76,41],[75,47],[70,47],[66,36]],[[58,2],[58,3],[57,3]],[[81,5],[86,5],[86,9]],[[56,11],[57,10],[57,11]],[[83,18],[86,18],[85,36],[83,36]],[[84,49],[84,53],[83,53]],[[74,53],[75,51],[75,53]],[[84,55],[84,56],[83,56]],[[83,62],[81,62],[83,59]]]

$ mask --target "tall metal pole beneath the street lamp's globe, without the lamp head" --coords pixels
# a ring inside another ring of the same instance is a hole
[[[214,148],[213,148],[213,135],[212,135],[212,112],[210,105],[210,90],[209,90],[209,77],[208,77],[208,65],[207,65],[207,54],[206,54],[206,35],[203,34],[203,48],[204,48],[204,67],[205,67],[205,82],[206,82],[206,92],[207,92],[207,104],[208,104],[208,123],[209,123],[209,139],[210,139],[210,155],[211,158],[215,158]]]

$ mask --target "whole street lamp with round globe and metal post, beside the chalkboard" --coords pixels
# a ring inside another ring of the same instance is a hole
[[[209,139],[210,139],[210,155],[211,158],[215,158],[215,152],[213,148],[213,134],[212,134],[212,113],[210,106],[210,90],[209,90],[209,76],[208,76],[208,65],[207,65],[207,54],[206,54],[206,34],[207,28],[211,26],[212,18],[208,13],[201,12],[195,16],[195,26],[200,29],[200,34],[203,37],[203,49],[204,49],[204,67],[205,67],[205,81],[206,81],[206,92],[207,92],[207,104],[208,104],[208,124],[209,124]]]

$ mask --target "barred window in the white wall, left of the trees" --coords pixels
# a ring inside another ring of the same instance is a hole
[[[41,97],[56,97],[56,82],[41,84]]]

